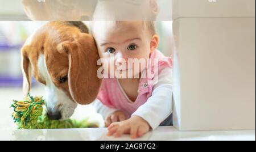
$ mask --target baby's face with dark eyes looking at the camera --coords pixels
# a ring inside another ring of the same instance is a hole
[[[146,65],[140,64],[139,70],[134,71],[129,59],[146,61],[150,57],[151,37],[143,22],[94,22],[93,33],[98,46],[100,57],[104,59],[104,70],[114,64],[114,69],[121,73],[133,70],[133,76],[141,73]]]

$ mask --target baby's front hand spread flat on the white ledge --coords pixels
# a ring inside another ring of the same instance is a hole
[[[133,116],[125,121],[112,123],[108,127],[108,136],[120,137],[122,134],[130,134],[131,138],[141,137],[150,130],[150,125],[139,116]]]

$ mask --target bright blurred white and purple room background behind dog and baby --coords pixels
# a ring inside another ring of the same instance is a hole
[[[11,120],[10,108],[12,100],[23,99],[20,48],[37,28],[46,22],[34,21],[0,21],[0,128],[15,128]],[[89,27],[89,21],[85,21]],[[159,50],[166,56],[172,54],[172,22],[155,22],[160,37]],[[44,96],[44,87],[32,81],[31,94]],[[92,105],[79,106],[73,115],[76,119],[90,117],[103,125],[102,117],[96,113]]]

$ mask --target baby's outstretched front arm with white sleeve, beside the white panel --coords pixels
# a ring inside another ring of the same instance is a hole
[[[158,83],[152,96],[133,113],[130,119],[109,126],[109,135],[115,137],[123,133],[137,138],[159,126],[172,113],[172,69],[166,68],[159,74]]]

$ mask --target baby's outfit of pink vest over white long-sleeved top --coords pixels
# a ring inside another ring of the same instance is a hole
[[[118,79],[102,79],[102,86],[98,94],[98,100],[94,103],[98,112],[106,117],[114,111],[121,110],[131,117],[137,115],[150,124],[152,129],[159,126],[164,120],[170,118],[172,114],[172,60],[170,57],[155,50],[150,55],[150,60],[158,58],[158,62],[148,64],[142,71],[142,75],[147,69],[155,69],[158,66],[158,73],[154,72],[152,78],[141,78],[138,88],[137,99],[132,102],[121,87]],[[156,75],[158,74],[158,75]],[[158,76],[155,85],[149,81]]]

